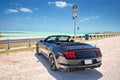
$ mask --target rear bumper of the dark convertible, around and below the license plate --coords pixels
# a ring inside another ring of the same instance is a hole
[[[88,59],[67,60],[64,57],[61,57],[57,59],[57,67],[60,70],[82,70],[93,69],[102,65],[101,57],[89,59],[92,60],[92,64],[85,64],[85,60]]]

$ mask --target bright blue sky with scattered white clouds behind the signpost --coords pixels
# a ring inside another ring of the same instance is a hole
[[[120,0],[0,0],[0,31],[120,32]]]

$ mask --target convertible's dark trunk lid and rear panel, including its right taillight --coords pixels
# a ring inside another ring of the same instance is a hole
[[[99,48],[84,43],[64,44],[62,47],[66,52],[73,51],[76,59],[88,59],[101,56]]]

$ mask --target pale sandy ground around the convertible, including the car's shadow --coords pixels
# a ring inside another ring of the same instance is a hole
[[[100,68],[61,72],[51,71],[48,60],[35,51],[0,54],[0,80],[120,80],[120,37],[89,41],[103,54]]]

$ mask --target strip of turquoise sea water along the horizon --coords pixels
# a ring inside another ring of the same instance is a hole
[[[0,31],[2,37],[24,37],[24,36],[49,36],[49,35],[73,35],[73,32],[30,32],[30,31]],[[77,35],[86,34],[76,32]]]

